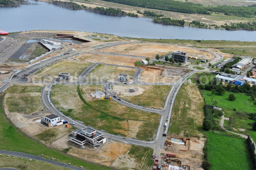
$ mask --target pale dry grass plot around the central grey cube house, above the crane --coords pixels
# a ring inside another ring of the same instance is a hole
[[[128,74],[130,79],[136,71],[137,69],[99,64],[89,72],[84,81],[98,82],[107,80],[109,82],[117,82],[118,74]]]

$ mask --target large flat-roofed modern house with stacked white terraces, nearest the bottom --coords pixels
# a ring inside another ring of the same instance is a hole
[[[71,132],[71,134],[73,137],[69,140],[82,147],[88,144],[95,148],[106,142],[106,138],[103,137],[103,134],[92,128],[78,128]]]

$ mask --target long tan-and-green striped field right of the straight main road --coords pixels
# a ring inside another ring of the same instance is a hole
[[[197,86],[183,84],[175,97],[168,133],[180,137],[200,136],[204,119],[203,107],[204,100]]]

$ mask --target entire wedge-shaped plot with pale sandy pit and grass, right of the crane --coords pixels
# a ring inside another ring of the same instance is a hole
[[[118,97],[123,100],[149,108],[163,109],[165,101],[172,86],[168,85],[114,85]],[[135,89],[136,92],[129,93],[129,89]],[[127,93],[128,92],[128,93]]]

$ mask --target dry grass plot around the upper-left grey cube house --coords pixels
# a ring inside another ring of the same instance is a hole
[[[74,62],[74,61],[59,61],[51,64],[30,76],[31,81],[52,81],[58,78],[60,72],[70,73],[70,80],[80,75],[88,66],[90,62]]]

